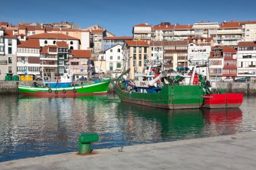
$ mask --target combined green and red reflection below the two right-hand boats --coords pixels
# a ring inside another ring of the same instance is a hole
[[[131,103],[120,103],[119,114],[126,114],[129,142],[182,140],[235,134],[242,124],[239,108],[225,110],[163,110]],[[121,116],[125,117],[125,116]],[[149,141],[150,140],[150,141]]]

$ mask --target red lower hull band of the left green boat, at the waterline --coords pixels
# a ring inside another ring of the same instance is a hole
[[[58,93],[48,93],[48,92],[36,92],[36,93],[22,93],[24,97],[37,97],[37,98],[48,98],[48,97],[78,97],[78,96],[87,96],[87,95],[106,95],[107,92],[102,93],[73,93],[73,91],[67,91],[66,93],[62,93],[62,91],[58,91]]]

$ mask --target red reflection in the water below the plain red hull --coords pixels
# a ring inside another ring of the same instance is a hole
[[[243,112],[239,108],[203,109],[205,128],[211,136],[236,134],[243,124]]]

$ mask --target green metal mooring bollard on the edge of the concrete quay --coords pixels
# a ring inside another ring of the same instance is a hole
[[[98,141],[98,134],[82,132],[78,139],[78,154],[84,155],[92,152],[91,142]]]

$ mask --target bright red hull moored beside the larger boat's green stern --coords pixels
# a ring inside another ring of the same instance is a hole
[[[202,108],[239,108],[243,103],[243,93],[223,93],[204,95]]]

